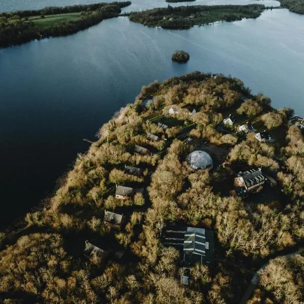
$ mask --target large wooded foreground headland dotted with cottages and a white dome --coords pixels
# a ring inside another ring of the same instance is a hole
[[[144,86],[0,233],[0,302],[303,302],[303,128],[221,74]]]

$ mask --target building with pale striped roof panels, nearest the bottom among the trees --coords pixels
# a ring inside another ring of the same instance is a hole
[[[195,263],[213,265],[213,231],[195,227],[167,230],[163,242],[164,245],[173,246],[181,251],[184,267]]]

